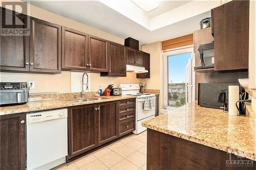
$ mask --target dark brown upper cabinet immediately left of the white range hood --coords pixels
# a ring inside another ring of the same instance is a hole
[[[125,77],[126,57],[124,46],[115,42],[108,42],[109,71],[101,72],[100,76]]]

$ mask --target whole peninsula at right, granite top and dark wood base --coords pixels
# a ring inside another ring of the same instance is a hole
[[[142,126],[147,128],[147,169],[256,169],[250,116],[229,116],[193,102]]]

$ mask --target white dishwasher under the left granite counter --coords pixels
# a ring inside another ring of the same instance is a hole
[[[68,155],[68,109],[26,114],[27,169],[51,169]]]

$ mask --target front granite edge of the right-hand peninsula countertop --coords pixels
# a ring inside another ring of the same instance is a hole
[[[155,130],[155,131],[158,131],[158,132],[161,132],[161,133],[165,133],[165,134],[168,134],[168,135],[179,137],[181,139],[185,139],[185,140],[188,140],[188,141],[196,142],[196,143],[205,145],[205,146],[210,147],[210,148],[218,149],[218,150],[221,150],[221,151],[224,151],[224,152],[229,152],[231,154],[239,155],[239,156],[242,156],[242,157],[245,157],[245,158],[256,161],[256,155],[254,153],[246,153],[244,151],[228,147],[227,145],[222,145],[222,144],[218,144],[218,143],[215,143],[215,142],[212,142],[212,141],[207,141],[207,140],[204,140],[204,139],[201,139],[201,138],[197,138],[197,137],[194,137],[194,136],[189,136],[189,135],[182,134],[182,133],[179,133],[179,132],[166,130],[164,128],[159,128],[159,127],[156,128],[154,126],[145,124],[143,122],[142,122],[142,126],[145,127],[145,128],[151,129],[151,130]]]

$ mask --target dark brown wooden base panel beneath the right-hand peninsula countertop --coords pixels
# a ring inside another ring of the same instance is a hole
[[[236,166],[228,160],[244,160],[236,155],[147,129],[146,169],[256,169],[253,164]],[[248,160],[248,159],[246,159]]]

